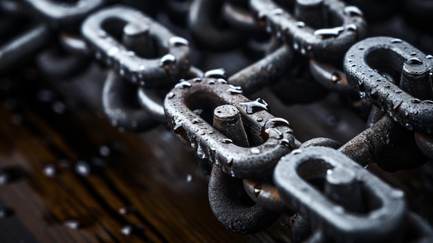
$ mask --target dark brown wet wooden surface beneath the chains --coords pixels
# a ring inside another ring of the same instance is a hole
[[[203,161],[177,135],[164,125],[142,134],[111,126],[100,108],[104,75],[95,65],[53,80],[26,64],[0,79],[0,181],[15,174],[0,183],[0,242],[291,242],[285,217],[253,235],[226,230],[210,210]],[[301,141],[344,143],[365,127],[335,96],[289,107],[268,91],[255,96]],[[431,168],[371,170],[430,221]]]

